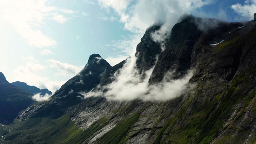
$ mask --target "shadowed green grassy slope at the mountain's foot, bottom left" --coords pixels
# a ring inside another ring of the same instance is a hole
[[[82,131],[74,126],[69,114],[56,120],[50,118],[15,120],[10,126],[12,132],[6,134],[6,140],[2,144],[60,144]]]

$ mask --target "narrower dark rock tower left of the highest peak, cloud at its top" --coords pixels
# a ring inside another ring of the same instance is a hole
[[[154,66],[156,56],[162,51],[160,44],[154,42],[151,37],[151,34],[159,30],[160,27],[161,26],[151,26],[148,28],[140,43],[137,45],[135,54],[137,56],[136,66],[140,74]]]

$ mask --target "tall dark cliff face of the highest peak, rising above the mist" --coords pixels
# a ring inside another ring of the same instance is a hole
[[[172,28],[168,47],[159,55],[149,82],[160,82],[164,74],[172,70],[176,70],[174,78],[183,76],[190,68],[192,49],[200,34],[192,16],[176,24]]]

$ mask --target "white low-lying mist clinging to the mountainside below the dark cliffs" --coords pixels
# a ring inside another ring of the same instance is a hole
[[[174,80],[173,72],[167,72],[162,82],[149,84],[148,80],[154,67],[144,74],[139,74],[136,69],[136,56],[127,59],[126,64],[113,76],[114,81],[106,86],[97,86],[90,92],[80,92],[84,98],[92,96],[104,96],[108,100],[134,100],[144,101],[170,100],[187,92],[193,85],[188,84],[193,75],[193,70],[188,70],[187,74]]]

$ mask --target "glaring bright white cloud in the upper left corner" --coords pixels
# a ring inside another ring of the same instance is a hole
[[[56,41],[40,30],[46,18],[53,18],[63,23],[68,20],[59,12],[73,14],[72,10],[46,6],[46,0],[1,0],[0,17],[3,22],[10,23],[30,46],[43,48],[54,46]]]

